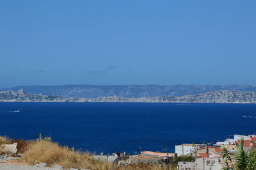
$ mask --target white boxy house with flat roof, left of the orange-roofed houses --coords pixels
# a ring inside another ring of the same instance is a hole
[[[177,156],[189,155],[195,153],[196,149],[204,148],[206,144],[179,144],[175,145],[175,153]]]

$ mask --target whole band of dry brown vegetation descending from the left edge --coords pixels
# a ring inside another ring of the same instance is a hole
[[[40,139],[37,141],[24,141],[23,139],[10,139],[0,136],[1,144],[18,144],[19,153],[24,154],[23,161],[29,164],[47,163],[48,166],[59,165],[64,168],[81,168],[92,170],[172,170],[173,167],[157,164],[131,164],[117,167],[110,162],[103,162],[93,159],[88,153],[75,151],[58,143]]]

